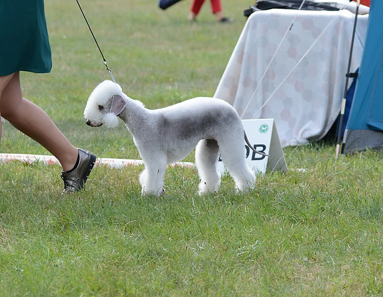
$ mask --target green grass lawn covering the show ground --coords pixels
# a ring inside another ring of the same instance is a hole
[[[215,23],[208,2],[81,1],[125,93],[157,108],[212,96],[252,1],[223,1],[236,22]],[[82,116],[109,74],[75,1],[46,1],[51,74],[23,73],[24,96],[78,146],[139,158],[126,128]],[[3,123],[1,152],[48,154]],[[334,159],[334,143],[285,148],[289,171],[256,190],[222,179],[199,197],[192,168],[169,168],[166,195],[141,197],[142,167],[96,167],[86,190],[61,196],[59,166],[0,165],[1,296],[383,296],[383,154]],[[190,155],[187,161],[194,161]],[[304,168],[305,171],[299,171]]]

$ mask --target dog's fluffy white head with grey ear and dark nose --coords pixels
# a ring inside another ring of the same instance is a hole
[[[89,96],[85,106],[84,117],[87,125],[100,127],[105,124],[107,127],[118,125],[117,115],[125,107],[125,94],[121,87],[106,80],[99,84]]]

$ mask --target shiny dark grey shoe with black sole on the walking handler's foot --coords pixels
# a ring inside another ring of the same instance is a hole
[[[64,181],[63,193],[73,193],[84,189],[86,180],[92,171],[96,156],[88,150],[78,148],[79,162],[73,171],[61,171],[61,178]]]

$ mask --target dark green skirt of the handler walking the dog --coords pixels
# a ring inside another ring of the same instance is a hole
[[[0,0],[0,76],[51,68],[44,0]]]

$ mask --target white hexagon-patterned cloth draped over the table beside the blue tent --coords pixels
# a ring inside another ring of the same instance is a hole
[[[282,147],[322,139],[340,111],[354,20],[348,10],[252,13],[214,97],[242,119],[274,118]],[[350,72],[359,67],[367,22],[358,15]]]

